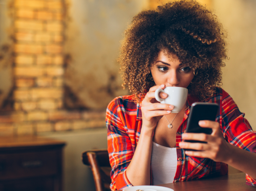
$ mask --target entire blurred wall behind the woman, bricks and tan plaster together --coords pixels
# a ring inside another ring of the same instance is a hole
[[[256,130],[256,1],[198,0],[228,31],[223,86]],[[93,191],[81,153],[107,147],[105,110],[121,88],[120,40],[165,0],[0,0],[0,135],[67,143],[64,190]]]

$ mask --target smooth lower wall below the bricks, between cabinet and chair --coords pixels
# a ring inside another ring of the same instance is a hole
[[[64,191],[95,191],[92,171],[82,163],[81,154],[90,149],[106,149],[106,131],[106,127],[104,127],[39,134],[66,142],[63,165]]]

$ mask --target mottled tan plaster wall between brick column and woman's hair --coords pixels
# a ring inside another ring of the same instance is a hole
[[[66,28],[65,84],[77,97],[74,105],[106,108],[122,90],[116,62],[122,33],[147,0],[70,0]]]

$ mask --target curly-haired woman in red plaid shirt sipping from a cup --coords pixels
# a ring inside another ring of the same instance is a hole
[[[123,86],[132,95],[115,98],[106,113],[111,190],[225,175],[227,164],[245,172],[247,184],[256,185],[256,132],[220,88],[225,37],[217,17],[193,0],[133,18],[119,57]],[[172,105],[155,100],[155,90],[167,86],[189,90],[178,114],[171,113]],[[185,133],[193,102],[220,106],[215,122],[199,122],[213,130],[211,135]]]

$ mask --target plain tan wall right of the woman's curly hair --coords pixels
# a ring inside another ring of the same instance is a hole
[[[228,31],[228,56],[223,89],[256,130],[256,1],[213,0],[212,7]]]

